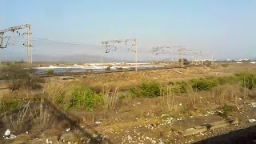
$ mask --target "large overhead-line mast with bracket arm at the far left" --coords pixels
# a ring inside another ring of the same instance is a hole
[[[27,63],[28,64],[32,64],[32,50],[31,50],[31,48],[32,48],[31,34],[32,33],[31,33],[31,26],[30,26],[30,24],[24,24],[24,25],[20,25],[20,26],[11,26],[11,27],[9,27],[7,29],[0,30],[0,44],[1,44],[0,48],[1,47],[2,48],[6,48],[7,47],[8,43],[6,44],[5,47],[2,46],[3,45],[2,40],[3,40],[3,38],[5,38],[4,34],[6,32],[14,32],[15,30],[21,30],[21,29],[26,29],[26,33],[24,33],[24,34],[26,34],[26,44],[23,44],[23,45],[27,47]]]

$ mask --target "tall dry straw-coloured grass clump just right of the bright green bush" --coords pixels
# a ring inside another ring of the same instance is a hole
[[[102,90],[102,96],[104,100],[104,108],[109,110],[115,110],[116,103],[118,102],[118,86],[113,89],[110,86],[104,86]]]

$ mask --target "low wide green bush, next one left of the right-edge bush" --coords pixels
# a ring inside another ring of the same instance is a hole
[[[198,79],[192,79],[191,83],[194,91],[211,90],[212,88],[218,85],[218,79],[217,78],[198,78]]]

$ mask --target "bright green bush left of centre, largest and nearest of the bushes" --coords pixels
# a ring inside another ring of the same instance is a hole
[[[89,86],[75,86],[71,92],[70,102],[66,104],[65,109],[94,110],[98,102],[102,102],[102,95],[94,93]]]

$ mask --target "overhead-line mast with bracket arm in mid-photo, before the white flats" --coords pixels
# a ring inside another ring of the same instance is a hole
[[[117,39],[117,40],[109,40],[109,41],[102,41],[102,46],[106,47],[106,53],[110,53],[113,50],[118,50],[120,44],[122,42],[134,42],[132,46],[134,46],[134,62],[135,62],[135,71],[138,71],[138,39],[137,38],[126,38],[126,39]],[[111,46],[110,44],[118,44],[118,46]],[[109,47],[109,48],[108,48]],[[112,47],[112,49],[111,49]],[[114,47],[114,49],[113,49]]]

